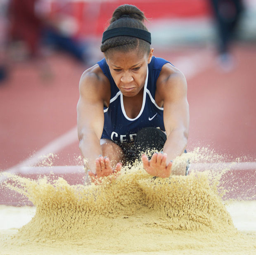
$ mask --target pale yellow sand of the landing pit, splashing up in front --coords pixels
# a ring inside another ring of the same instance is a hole
[[[255,203],[225,205],[207,172],[153,179],[139,165],[100,186],[12,179],[36,210],[19,230],[2,229],[1,254],[256,253],[255,228],[237,229],[228,212],[235,220]]]

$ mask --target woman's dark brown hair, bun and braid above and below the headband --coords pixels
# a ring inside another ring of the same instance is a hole
[[[144,13],[134,5],[120,5],[113,12],[110,20],[110,25],[106,29],[118,27],[139,28],[148,31],[143,24],[147,21]],[[135,38],[132,36],[122,35],[114,38],[109,38],[102,43],[100,50],[107,54],[112,50],[119,50],[121,52],[128,52],[130,50],[138,49],[139,52],[149,53],[150,44],[145,40]]]

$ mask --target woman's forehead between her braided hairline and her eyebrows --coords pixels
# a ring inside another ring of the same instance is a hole
[[[137,50],[129,52],[113,51],[105,57],[109,65],[122,68],[129,68],[147,61],[147,54],[140,53]]]

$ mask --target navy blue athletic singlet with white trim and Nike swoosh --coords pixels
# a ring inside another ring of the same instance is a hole
[[[114,82],[106,59],[97,62],[103,73],[109,79],[111,99],[109,107],[104,107],[104,127],[101,138],[111,139],[117,144],[133,142],[137,132],[143,127],[156,127],[165,131],[164,108],[159,107],[154,98],[156,81],[162,66],[170,63],[165,59],[152,57],[148,64],[147,77],[144,85],[142,108],[136,118],[129,118],[123,106],[123,94]]]

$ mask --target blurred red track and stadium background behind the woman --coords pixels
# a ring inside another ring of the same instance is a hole
[[[78,83],[124,3],[148,18],[154,55],[187,78],[187,149],[256,161],[256,0],[0,0],[1,171],[49,153],[50,166],[82,165]]]

